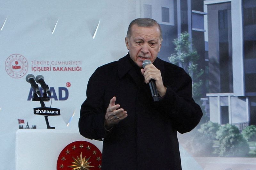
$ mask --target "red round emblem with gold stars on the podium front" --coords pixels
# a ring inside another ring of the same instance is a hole
[[[59,155],[57,170],[101,169],[102,153],[92,143],[76,141],[68,144]]]

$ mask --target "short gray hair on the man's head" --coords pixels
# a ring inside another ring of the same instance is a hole
[[[142,27],[153,27],[153,26],[158,26],[159,30],[160,30],[160,39],[162,40],[163,39],[163,36],[162,36],[162,30],[161,30],[161,27],[160,25],[156,22],[156,20],[154,19],[151,19],[151,18],[137,18],[137,19],[134,19],[129,27],[128,27],[128,30],[127,30],[127,34],[126,34],[126,37],[130,38],[131,37],[131,28],[133,25],[137,25],[137,26],[142,26]]]

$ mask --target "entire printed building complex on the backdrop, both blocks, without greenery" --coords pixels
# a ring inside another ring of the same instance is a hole
[[[204,70],[206,116],[242,130],[256,124],[256,1],[141,0],[140,17],[155,19],[163,32],[159,57],[169,61],[173,40],[188,32]]]

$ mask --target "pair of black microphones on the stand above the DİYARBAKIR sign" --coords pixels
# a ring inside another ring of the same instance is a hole
[[[36,80],[36,82],[35,82],[35,80]],[[35,76],[33,74],[28,74],[26,76],[26,81],[28,83],[30,83],[31,87],[34,89],[36,94],[38,94],[39,96],[41,96],[41,92],[40,92],[39,87],[36,83],[39,83],[41,85],[41,87],[44,89],[44,92],[46,92],[49,96],[51,96],[51,92],[49,90],[49,87],[44,82],[44,76],[37,75],[36,78],[35,78]]]

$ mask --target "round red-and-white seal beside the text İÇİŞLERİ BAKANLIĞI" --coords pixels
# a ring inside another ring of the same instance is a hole
[[[28,61],[20,54],[12,54],[5,61],[5,70],[12,78],[21,78],[28,71]]]

